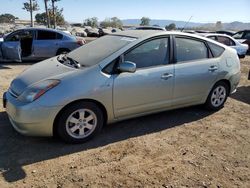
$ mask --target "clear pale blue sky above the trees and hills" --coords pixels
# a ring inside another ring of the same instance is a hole
[[[11,13],[20,19],[29,19],[29,13],[22,9],[27,0],[0,0],[0,14]],[[37,0],[44,12],[43,0]],[[191,22],[250,22],[250,0],[61,0],[68,22],[82,23],[90,17],[99,21],[105,18],[168,19]],[[35,12],[38,13],[38,12]]]

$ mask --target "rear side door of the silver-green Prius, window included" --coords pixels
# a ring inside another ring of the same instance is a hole
[[[173,106],[200,103],[218,75],[218,58],[211,56],[202,40],[175,37],[175,83]]]

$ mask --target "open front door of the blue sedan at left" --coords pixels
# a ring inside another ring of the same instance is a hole
[[[2,42],[2,56],[4,59],[12,61],[21,61],[21,45],[20,38],[24,31],[16,31],[4,38]]]

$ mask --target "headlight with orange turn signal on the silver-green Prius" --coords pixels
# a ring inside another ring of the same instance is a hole
[[[38,82],[28,89],[26,89],[19,97],[18,100],[23,102],[33,102],[44,93],[57,86],[60,83],[60,80],[44,80]]]

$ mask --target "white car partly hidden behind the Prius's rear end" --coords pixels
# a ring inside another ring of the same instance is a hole
[[[216,33],[214,33],[214,34],[202,34],[202,35],[235,49],[237,51],[239,58],[244,58],[246,53],[247,53],[247,50],[248,50],[247,44],[242,44],[239,41],[237,41],[236,39],[234,39],[228,35],[216,34]]]

